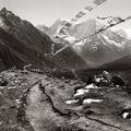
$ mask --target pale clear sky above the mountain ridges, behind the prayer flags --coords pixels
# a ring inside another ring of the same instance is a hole
[[[20,17],[34,25],[50,26],[57,19],[72,19],[93,0],[0,0],[0,9],[5,7]],[[131,0],[107,0],[97,9],[86,14],[81,21],[95,16],[129,16],[131,15]],[[131,35],[131,21],[117,26],[123,27]]]

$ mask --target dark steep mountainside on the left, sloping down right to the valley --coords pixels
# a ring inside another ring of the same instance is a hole
[[[45,64],[51,68],[56,66],[68,69],[86,67],[85,61],[71,48],[50,60],[48,55],[51,52],[52,43],[47,35],[39,32],[29,22],[21,20],[5,8],[0,11],[1,70],[13,66],[21,68],[28,63],[39,68],[45,68]],[[56,45],[56,49],[60,47],[61,45]]]

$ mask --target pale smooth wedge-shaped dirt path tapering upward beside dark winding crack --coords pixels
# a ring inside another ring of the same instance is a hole
[[[39,84],[31,90],[27,103],[26,115],[34,131],[53,131],[64,123],[64,119],[53,112],[48,97],[39,90]]]

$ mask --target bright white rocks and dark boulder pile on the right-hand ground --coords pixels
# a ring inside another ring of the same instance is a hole
[[[118,85],[120,83],[121,85]],[[94,78],[92,79],[92,82],[85,85],[84,87],[75,88],[73,98],[66,100],[66,104],[84,105],[84,104],[92,104],[92,103],[102,103],[104,99],[94,98],[91,95],[92,94],[94,94],[94,96],[97,96],[98,94],[100,95],[102,88],[105,88],[105,87],[111,88],[111,87],[120,87],[123,85],[124,85],[124,82],[122,81],[122,79],[116,75],[111,75],[107,71],[103,71],[103,73],[94,75]],[[90,93],[91,95],[88,96]],[[123,118],[126,118],[126,116],[128,116],[128,114],[124,114]]]

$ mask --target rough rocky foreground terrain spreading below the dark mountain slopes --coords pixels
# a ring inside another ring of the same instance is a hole
[[[131,131],[131,96],[123,86],[16,69],[0,78],[0,131]]]

